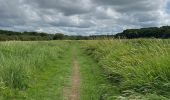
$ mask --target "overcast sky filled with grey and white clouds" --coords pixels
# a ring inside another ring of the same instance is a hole
[[[0,29],[116,34],[170,25],[170,0],[0,0]]]

